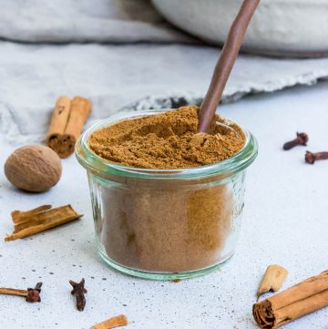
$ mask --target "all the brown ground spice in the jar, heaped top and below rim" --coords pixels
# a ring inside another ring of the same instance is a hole
[[[216,116],[198,134],[197,107],[119,121],[94,132],[89,147],[110,161],[139,168],[177,169],[227,159],[245,137]],[[208,268],[233,253],[243,174],[194,180],[94,178],[96,231],[110,261],[146,272]]]

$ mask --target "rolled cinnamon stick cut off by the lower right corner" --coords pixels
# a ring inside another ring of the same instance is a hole
[[[328,271],[255,303],[252,313],[261,328],[275,329],[325,306],[328,306]]]

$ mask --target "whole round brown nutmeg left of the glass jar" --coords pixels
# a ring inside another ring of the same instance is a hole
[[[58,155],[46,146],[24,146],[5,161],[6,178],[15,187],[31,192],[49,190],[56,185],[61,172]]]

